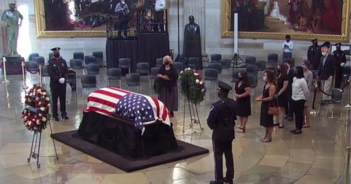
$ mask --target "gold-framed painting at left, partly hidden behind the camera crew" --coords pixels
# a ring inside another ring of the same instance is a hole
[[[114,9],[119,2],[120,0],[34,0],[37,37],[105,37],[106,16],[115,14]],[[128,27],[135,27],[138,8],[153,6],[153,0],[125,2],[131,15]]]

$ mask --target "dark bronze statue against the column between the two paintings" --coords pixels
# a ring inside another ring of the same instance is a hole
[[[202,69],[200,26],[189,16],[189,23],[184,28],[183,57],[198,57],[199,69]]]

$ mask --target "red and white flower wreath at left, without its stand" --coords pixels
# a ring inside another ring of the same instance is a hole
[[[37,85],[26,93],[22,120],[29,131],[41,132],[50,120],[50,97],[45,88]]]

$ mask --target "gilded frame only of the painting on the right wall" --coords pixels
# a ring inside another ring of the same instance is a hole
[[[231,0],[221,0],[221,38],[234,38],[231,28]],[[289,34],[294,40],[324,40],[349,42],[350,38],[350,0],[343,0],[341,34],[314,34],[314,33],[276,33],[276,32],[242,32],[239,31],[239,38],[252,39],[285,39]]]

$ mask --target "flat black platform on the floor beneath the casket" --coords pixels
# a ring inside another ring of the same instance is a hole
[[[51,137],[125,172],[132,172],[208,153],[208,149],[177,140],[177,151],[133,161],[78,138],[76,135],[77,130],[74,130],[52,134]]]

